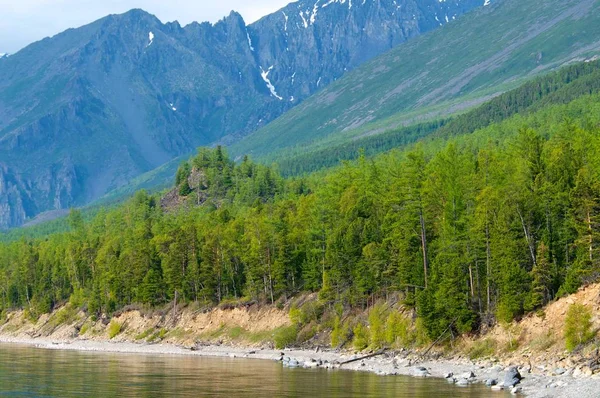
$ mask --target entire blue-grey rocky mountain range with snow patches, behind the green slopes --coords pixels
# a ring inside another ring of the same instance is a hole
[[[487,2],[486,2],[487,3]],[[230,143],[483,0],[298,1],[246,25],[132,10],[0,59],[0,228]]]

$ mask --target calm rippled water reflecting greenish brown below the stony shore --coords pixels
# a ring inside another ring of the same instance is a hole
[[[482,386],[271,361],[79,353],[0,345],[0,397],[499,397]]]

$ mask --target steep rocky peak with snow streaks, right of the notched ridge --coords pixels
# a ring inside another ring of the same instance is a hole
[[[292,3],[248,28],[258,67],[273,96],[293,104],[345,72],[424,32],[481,0],[310,0]]]

